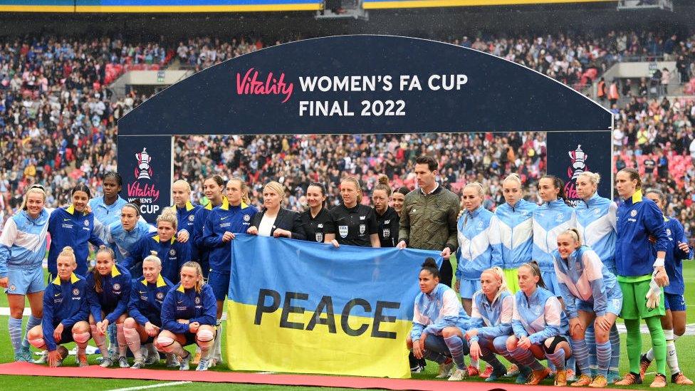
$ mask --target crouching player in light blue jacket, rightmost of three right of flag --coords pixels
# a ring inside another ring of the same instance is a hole
[[[527,385],[538,385],[550,370],[538,360],[555,365],[555,385],[567,385],[565,359],[572,354],[568,338],[568,320],[555,293],[545,288],[538,264],[522,264],[518,269],[519,291],[514,296],[513,335],[507,350],[521,367],[533,372]]]

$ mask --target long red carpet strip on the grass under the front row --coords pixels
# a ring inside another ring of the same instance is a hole
[[[377,377],[345,377],[345,376],[318,376],[318,375],[265,375],[248,372],[196,372],[189,370],[131,370],[121,368],[103,368],[91,365],[87,368],[58,367],[51,368],[46,365],[30,363],[8,363],[0,365],[0,375],[28,375],[28,376],[58,376],[58,377],[100,377],[112,379],[138,379],[138,380],[166,380],[193,382],[229,382],[267,385],[308,385],[318,387],[346,387],[346,388],[383,388],[386,390],[423,390],[423,391],[451,391],[451,382],[434,380],[404,380],[382,379]],[[568,391],[570,387],[553,387],[539,385],[528,387],[523,385],[510,385],[506,383],[464,382],[467,391]]]

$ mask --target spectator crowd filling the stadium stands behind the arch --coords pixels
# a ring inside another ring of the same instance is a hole
[[[587,83],[612,61],[630,56],[684,56],[681,63],[687,71],[683,74],[689,77],[695,57],[694,38],[649,31],[610,31],[605,36],[464,36],[446,41],[516,61],[570,85]],[[117,38],[4,38],[0,41],[0,147],[6,151],[0,166],[0,206],[4,217],[19,205],[19,194],[31,183],[52,185],[47,199],[50,206],[65,204],[67,190],[77,182],[88,182],[97,193],[101,192],[96,178],[115,168],[116,121],[147,98],[134,90],[125,98],[111,96],[105,83],[115,78],[113,69],[122,72],[128,66],[142,64],[166,66],[177,58],[182,65],[202,70],[263,46],[265,43],[256,38],[225,41],[197,37],[170,45]],[[674,210],[670,212],[693,217],[695,208],[686,194],[692,194],[689,190],[695,170],[684,158],[695,157],[695,145],[691,148],[692,101],[647,100],[641,88],[625,93],[634,96],[624,107],[614,109],[618,118],[615,145],[622,146],[616,157],[617,167],[625,164],[643,170],[644,161],[648,165],[652,160],[659,161],[659,167],[663,167],[666,160],[671,170],[654,175],[664,186],[676,188],[670,196],[676,201],[671,203]],[[330,137],[338,148],[323,150],[320,146],[326,144],[322,137]],[[332,184],[328,189],[332,204],[338,202],[338,178],[346,173],[360,175],[367,190],[381,172],[392,174],[394,184],[412,187],[412,177],[403,173],[412,168],[414,157],[429,150],[444,169],[441,182],[460,189],[461,184],[479,179],[491,189],[486,206],[493,208],[501,199],[499,184],[485,177],[519,170],[533,189],[534,179],[544,171],[543,135],[444,133],[425,137],[427,143],[412,135],[288,135],[257,140],[182,137],[177,140],[177,154],[187,158],[177,159],[183,163],[177,164],[175,176],[189,179],[194,184],[194,197],[202,199],[200,178],[209,172],[236,172],[254,184],[251,198],[255,204],[260,204],[261,184],[277,176],[291,189],[290,207],[301,209],[301,188],[320,178]],[[652,147],[654,140],[657,145],[661,143],[659,147]],[[209,153],[194,153],[203,149]],[[311,159],[317,159],[318,164],[310,164]],[[529,197],[538,200],[533,191]],[[689,225],[686,229],[690,232]]]

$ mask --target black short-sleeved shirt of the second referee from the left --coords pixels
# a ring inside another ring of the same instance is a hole
[[[330,220],[324,224],[326,234],[335,234],[340,244],[371,247],[371,234],[377,234],[374,209],[357,204],[350,209],[340,204],[328,211]]]

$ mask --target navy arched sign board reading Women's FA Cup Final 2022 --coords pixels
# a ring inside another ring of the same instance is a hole
[[[419,38],[333,36],[239,56],[158,93],[118,122],[118,170],[135,164],[122,144],[142,150],[152,136],[545,131],[569,142],[567,132],[611,127],[600,105],[502,58]],[[156,189],[170,188],[171,170],[155,174]],[[610,164],[595,170],[610,177]]]

